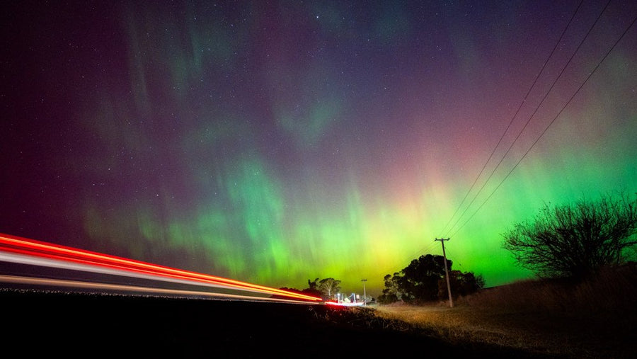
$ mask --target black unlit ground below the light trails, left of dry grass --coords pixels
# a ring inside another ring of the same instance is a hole
[[[24,290],[0,303],[3,349],[20,356],[536,358],[396,330],[372,309]]]

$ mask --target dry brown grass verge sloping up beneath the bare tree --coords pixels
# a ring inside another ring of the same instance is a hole
[[[400,319],[458,345],[493,345],[565,358],[635,358],[637,268],[580,285],[525,281],[445,304],[386,305]]]

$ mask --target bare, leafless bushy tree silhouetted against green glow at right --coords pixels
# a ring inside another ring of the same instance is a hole
[[[503,248],[540,277],[582,280],[602,266],[619,264],[637,244],[637,193],[597,202],[545,205],[534,222],[515,224],[503,234]]]

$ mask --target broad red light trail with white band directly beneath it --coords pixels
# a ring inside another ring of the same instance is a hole
[[[214,275],[159,266],[152,263],[134,261],[103,253],[74,249],[67,246],[58,246],[42,241],[35,241],[33,239],[15,237],[8,234],[0,234],[0,260],[34,266],[66,268],[85,272],[161,280],[164,282],[260,292],[280,297],[293,298],[294,300],[305,300],[310,302],[321,301],[321,298],[318,297],[302,295],[300,293],[289,292],[287,290],[279,290],[271,287],[265,287],[263,285],[244,283],[239,280],[231,280]],[[15,280],[15,278],[13,278],[13,280]],[[224,296],[228,297],[228,295]],[[253,299],[254,297],[250,298]]]

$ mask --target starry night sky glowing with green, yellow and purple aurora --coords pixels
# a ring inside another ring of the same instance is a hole
[[[378,295],[441,237],[487,285],[529,278],[501,249],[513,224],[637,192],[635,1],[2,12],[6,234]]]

